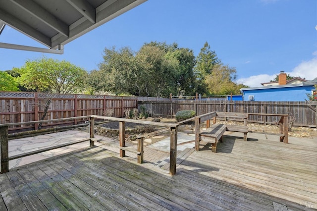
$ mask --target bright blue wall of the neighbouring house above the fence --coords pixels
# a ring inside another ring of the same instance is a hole
[[[250,95],[254,96],[254,101],[305,101],[314,89],[314,86],[276,87],[243,90],[243,93],[245,101],[249,101]]]

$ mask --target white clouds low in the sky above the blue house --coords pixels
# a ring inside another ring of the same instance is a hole
[[[317,52],[313,54],[316,55]],[[308,60],[302,61],[299,65],[297,65],[291,72],[285,72],[293,77],[301,77],[306,80],[313,80],[317,77],[317,57]],[[278,73],[273,75],[261,74],[261,75],[253,75],[249,78],[240,78],[237,80],[237,83],[245,84],[249,87],[262,87],[261,83],[269,82],[273,78],[275,78]]]

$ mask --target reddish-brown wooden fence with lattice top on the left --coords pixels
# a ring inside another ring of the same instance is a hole
[[[31,92],[0,92],[0,124],[42,120],[45,101],[51,100],[47,116],[43,120],[88,115],[105,115],[113,109],[113,117],[123,117],[125,109],[137,108],[137,97],[106,95],[66,95]],[[42,128],[57,125],[71,125],[83,122],[77,118],[66,122],[45,122]],[[20,124],[9,127],[10,133],[38,129],[39,123]]]

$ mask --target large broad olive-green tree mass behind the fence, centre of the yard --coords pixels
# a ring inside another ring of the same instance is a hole
[[[96,91],[135,96],[168,97],[170,93],[190,94],[194,90],[195,56],[177,44],[151,42],[134,53],[125,47],[104,50],[99,71],[89,76]],[[106,78],[102,81],[98,76]]]

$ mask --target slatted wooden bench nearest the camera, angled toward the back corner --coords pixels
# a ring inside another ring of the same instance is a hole
[[[206,131],[201,132],[200,140],[211,143],[211,151],[216,152],[216,147],[218,141],[222,142],[222,135],[227,130],[226,125],[224,124],[213,124]]]

